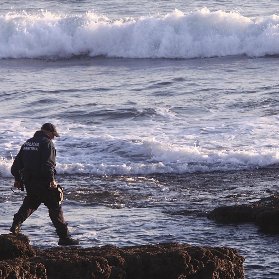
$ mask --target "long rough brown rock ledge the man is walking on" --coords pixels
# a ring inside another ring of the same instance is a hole
[[[241,279],[244,257],[228,247],[178,243],[35,250],[25,235],[0,235],[0,278]]]

